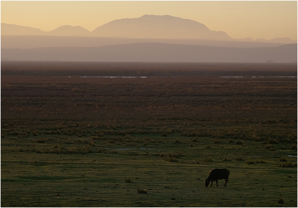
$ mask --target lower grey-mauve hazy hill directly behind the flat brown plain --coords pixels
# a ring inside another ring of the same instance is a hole
[[[249,49],[166,43],[132,43],[101,47],[1,49],[1,60],[116,62],[297,62],[297,44]]]

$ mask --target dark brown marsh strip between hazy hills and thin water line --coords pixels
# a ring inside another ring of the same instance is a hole
[[[1,62],[1,75],[297,76],[297,63]]]

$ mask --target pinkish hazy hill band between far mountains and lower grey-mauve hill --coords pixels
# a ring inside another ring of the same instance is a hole
[[[284,43],[263,43],[245,41],[224,41],[204,39],[152,39],[120,37],[66,37],[66,36],[1,36],[1,48],[40,48],[40,47],[98,47],[128,43],[172,43],[200,46],[219,46],[234,48],[276,47]]]

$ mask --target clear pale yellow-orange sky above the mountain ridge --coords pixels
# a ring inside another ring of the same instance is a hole
[[[297,1],[1,1],[1,23],[51,31],[92,31],[115,19],[142,15],[191,19],[232,38],[297,39]]]

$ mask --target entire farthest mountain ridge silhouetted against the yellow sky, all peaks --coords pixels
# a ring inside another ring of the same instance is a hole
[[[173,17],[170,15],[143,15],[139,18],[126,18],[111,21],[97,27],[92,32],[81,26],[60,26],[52,31],[38,28],[1,23],[1,36],[50,35],[77,37],[123,37],[152,39],[204,39],[266,43],[297,43],[288,37],[272,40],[251,38],[233,39],[223,31],[212,31],[197,21]]]

